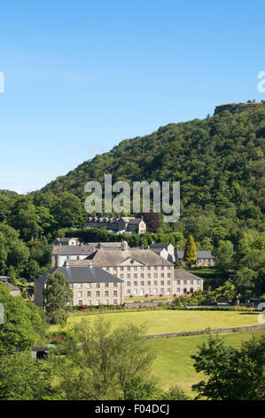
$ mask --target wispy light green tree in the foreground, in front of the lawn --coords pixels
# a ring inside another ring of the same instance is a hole
[[[154,355],[142,327],[82,321],[60,352],[65,356],[53,357],[52,369],[67,399],[141,399],[155,390],[148,377]]]

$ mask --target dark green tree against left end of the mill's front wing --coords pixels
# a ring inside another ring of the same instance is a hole
[[[48,274],[46,288],[43,290],[47,318],[58,324],[68,317],[67,304],[73,299],[73,291],[62,273]]]

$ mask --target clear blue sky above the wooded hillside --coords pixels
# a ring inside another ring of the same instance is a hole
[[[125,138],[265,100],[264,0],[1,4],[0,189],[40,189]]]

